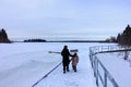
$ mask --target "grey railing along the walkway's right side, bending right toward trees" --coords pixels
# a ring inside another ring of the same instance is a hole
[[[96,46],[90,48],[90,60],[94,71],[94,76],[96,77],[97,86],[99,86],[99,83],[102,83],[103,87],[119,87],[115,78],[111,76],[108,70],[97,58],[97,53],[119,52],[119,51],[131,51],[131,48],[124,48],[117,45]],[[108,85],[108,83],[110,83],[111,85]]]

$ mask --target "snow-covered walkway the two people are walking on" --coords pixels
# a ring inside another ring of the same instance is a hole
[[[96,87],[93,70],[91,66],[88,54],[79,53],[80,61],[78,72],[72,71],[62,73],[62,65],[55,70],[48,77],[44,78],[35,87]]]

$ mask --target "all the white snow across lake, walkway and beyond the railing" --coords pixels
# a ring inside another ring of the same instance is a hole
[[[79,49],[80,62],[78,72],[63,74],[62,65],[38,83],[35,87],[96,87],[88,58],[88,47],[103,44],[91,42],[15,42],[0,44],[0,87],[32,87],[45,74],[61,62],[61,55],[48,51],[60,52],[63,46]],[[131,67],[118,53],[98,54],[120,87],[130,87]]]

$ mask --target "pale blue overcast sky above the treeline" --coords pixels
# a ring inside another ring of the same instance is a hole
[[[131,24],[131,0],[0,0],[0,28],[15,37],[105,39]]]

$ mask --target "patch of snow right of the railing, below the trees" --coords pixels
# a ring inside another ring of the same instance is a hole
[[[131,57],[123,60],[123,52],[100,53],[97,55],[112,75],[119,87],[131,87]]]

